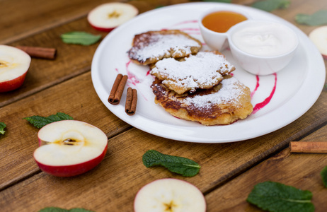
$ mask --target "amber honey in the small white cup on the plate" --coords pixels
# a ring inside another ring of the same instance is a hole
[[[243,20],[247,20],[246,16],[240,13],[231,11],[217,11],[210,13],[202,19],[202,24],[205,28],[217,33],[226,33],[229,28],[236,23],[240,23]]]

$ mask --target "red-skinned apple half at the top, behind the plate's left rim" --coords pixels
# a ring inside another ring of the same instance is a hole
[[[101,4],[88,13],[88,23],[96,30],[110,32],[138,13],[139,10],[132,4],[120,2]]]

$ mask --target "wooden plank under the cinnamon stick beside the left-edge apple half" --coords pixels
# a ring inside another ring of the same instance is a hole
[[[74,30],[86,31],[102,35],[103,37],[107,35],[107,33],[99,33],[93,30],[88,25],[86,18],[81,18],[67,25],[62,25],[19,42],[11,43],[12,46],[53,47],[57,49],[57,57],[54,60],[33,58],[23,86],[12,92],[1,93],[0,107],[91,69],[93,54],[96,52],[99,43],[91,46],[81,46],[62,42],[60,35]]]

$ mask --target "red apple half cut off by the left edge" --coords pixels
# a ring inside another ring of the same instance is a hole
[[[30,68],[30,56],[21,49],[0,45],[0,92],[15,90],[23,85]]]

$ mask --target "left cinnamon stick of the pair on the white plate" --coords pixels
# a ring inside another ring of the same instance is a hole
[[[125,84],[127,82],[127,75],[122,76],[119,73],[113,83],[113,88],[111,88],[108,102],[112,105],[118,105],[120,99],[122,98],[122,92],[124,91]]]

